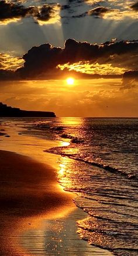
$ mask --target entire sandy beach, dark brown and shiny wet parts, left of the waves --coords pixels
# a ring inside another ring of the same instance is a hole
[[[62,142],[22,136],[12,122],[1,128],[9,137],[1,136],[0,254],[112,255],[76,234],[86,214],[57,183],[58,157],[42,150]]]

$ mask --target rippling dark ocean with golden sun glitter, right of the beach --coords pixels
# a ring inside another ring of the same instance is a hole
[[[138,255],[138,119],[25,119],[27,134],[62,140],[58,182],[88,217],[78,234],[115,255]]]

